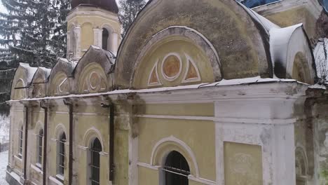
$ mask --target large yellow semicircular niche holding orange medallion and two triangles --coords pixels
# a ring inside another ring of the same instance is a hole
[[[210,83],[221,79],[220,66],[204,36],[187,27],[170,27],[143,47],[130,83],[135,89]]]

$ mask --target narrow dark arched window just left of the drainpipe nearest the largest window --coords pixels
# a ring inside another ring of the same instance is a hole
[[[100,184],[100,151],[102,151],[102,144],[96,138],[90,147],[90,184]]]

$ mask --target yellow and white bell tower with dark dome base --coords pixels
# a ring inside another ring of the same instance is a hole
[[[117,53],[121,25],[115,0],[72,0],[67,15],[67,58],[78,60],[93,45]]]

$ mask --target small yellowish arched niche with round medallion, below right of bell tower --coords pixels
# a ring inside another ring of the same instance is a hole
[[[78,78],[78,93],[99,93],[107,90],[107,76],[100,64],[92,62],[83,68]]]

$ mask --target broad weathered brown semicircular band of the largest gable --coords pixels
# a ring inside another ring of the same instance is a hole
[[[118,86],[130,88],[142,48],[151,36],[172,26],[190,27],[212,43],[222,78],[272,77],[261,34],[235,1],[153,0],[139,13],[120,46],[115,71]]]

